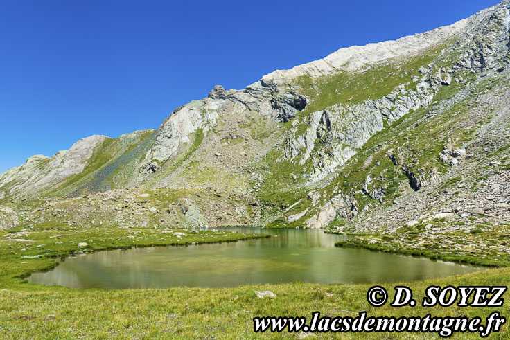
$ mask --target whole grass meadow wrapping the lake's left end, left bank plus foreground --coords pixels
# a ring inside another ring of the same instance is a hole
[[[176,230],[177,231],[177,230]],[[171,231],[173,233],[175,231]],[[0,232],[1,233],[1,232]],[[321,312],[322,316],[357,316],[366,311],[369,316],[480,316],[484,320],[492,312],[486,307],[425,308],[391,307],[389,303],[376,308],[369,305],[366,294],[375,284],[320,285],[286,283],[280,285],[249,285],[231,288],[173,287],[168,289],[70,289],[59,286],[33,285],[20,273],[48,268],[55,256],[73,252],[100,251],[128,247],[186,245],[210,242],[235,242],[267,235],[229,233],[227,231],[177,231],[182,240],[161,229],[36,229],[26,235],[0,234],[0,339],[196,339],[207,336],[220,339],[281,338],[297,339],[300,334],[255,334],[252,319],[256,316],[305,316]],[[109,235],[109,238],[105,238]],[[161,238],[168,237],[166,240]],[[168,235],[172,235],[171,238]],[[134,236],[129,238],[129,236]],[[14,241],[25,237],[27,242]],[[76,249],[76,240],[89,242],[89,247]],[[101,241],[102,240],[102,241]],[[173,240],[173,241],[172,241]],[[92,242],[91,242],[92,241]],[[14,244],[14,245],[12,245]],[[43,245],[43,247],[37,247]],[[12,248],[9,248],[12,247]],[[26,249],[21,251],[21,247]],[[26,254],[26,255],[20,255]],[[38,256],[37,258],[22,258]],[[49,258],[53,255],[53,258]],[[510,282],[510,268],[489,269],[464,276],[389,283],[383,285],[394,296],[395,285],[413,289],[416,301],[428,285],[501,285]],[[270,290],[274,299],[258,298],[255,291]],[[326,294],[328,293],[328,294]],[[331,295],[333,294],[333,295]],[[501,314],[509,314],[503,306]],[[496,338],[509,334],[504,325]],[[341,339],[363,338],[366,334],[316,334],[318,337]],[[388,334],[377,334],[387,339]],[[410,334],[392,334],[392,338],[407,339]],[[428,338],[431,334],[416,334]],[[475,338],[477,334],[459,334]]]

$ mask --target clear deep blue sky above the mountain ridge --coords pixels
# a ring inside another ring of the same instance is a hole
[[[92,134],[157,128],[338,48],[452,24],[497,0],[0,0],[0,172]]]

